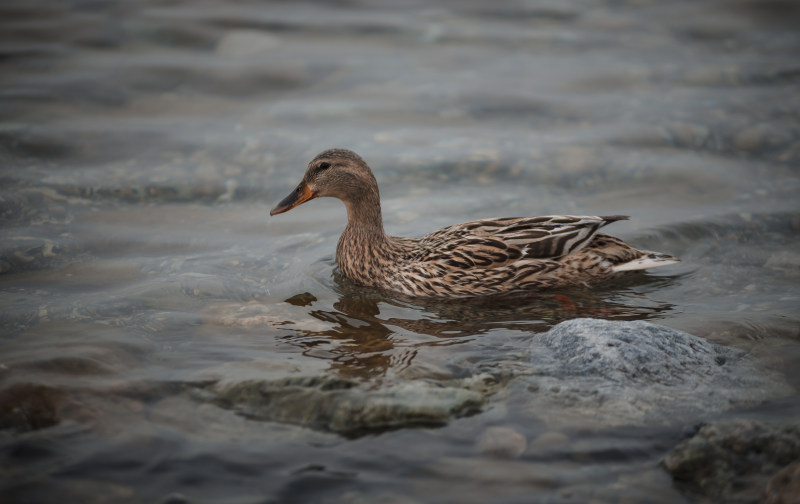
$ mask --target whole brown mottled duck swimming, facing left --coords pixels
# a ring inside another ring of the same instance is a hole
[[[340,272],[362,286],[407,296],[467,298],[589,287],[679,261],[598,232],[628,219],[625,215],[488,218],[422,238],[387,235],[375,175],[347,149],[314,157],[300,184],[270,216],[321,197],[338,198],[347,209],[336,246]]]

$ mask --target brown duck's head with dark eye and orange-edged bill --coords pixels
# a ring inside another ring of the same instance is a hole
[[[329,149],[308,163],[297,188],[269,214],[287,212],[308,200],[324,196],[339,198],[349,208],[351,203],[371,195],[378,195],[378,183],[361,156],[347,149]]]

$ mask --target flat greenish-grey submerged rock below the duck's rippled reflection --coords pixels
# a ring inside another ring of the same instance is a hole
[[[212,385],[214,402],[249,418],[358,435],[419,425],[442,425],[477,413],[479,392],[423,380],[365,389],[328,375],[246,380]]]

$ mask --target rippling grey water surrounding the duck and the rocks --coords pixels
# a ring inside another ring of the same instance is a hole
[[[515,379],[536,333],[589,316],[800,384],[797,19],[756,1],[6,2],[2,492],[686,499],[658,461],[703,419],[554,425]],[[338,201],[268,216],[333,146],[375,170],[391,234],[629,214],[609,231],[683,262],[514,299],[361,289],[335,272]],[[208,393],[296,376],[354,397],[492,380],[480,412],[346,434]],[[800,414],[767,399],[747,414]]]

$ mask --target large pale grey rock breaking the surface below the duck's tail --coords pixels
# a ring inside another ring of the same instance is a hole
[[[551,424],[685,422],[789,392],[745,352],[648,322],[573,319],[534,339],[528,407]]]

